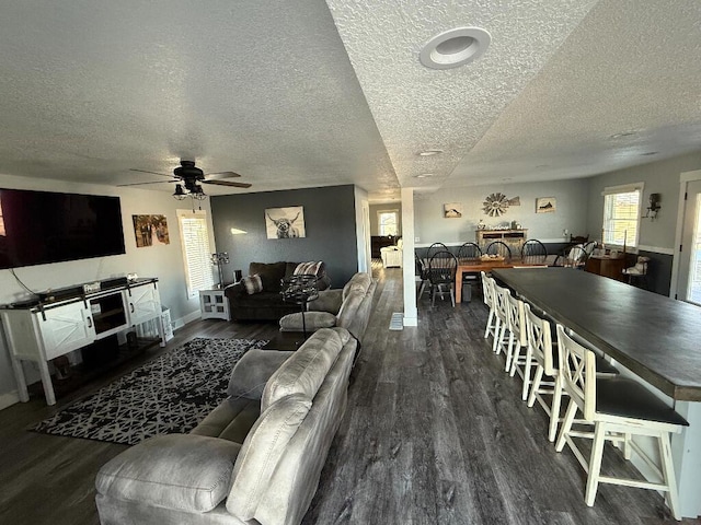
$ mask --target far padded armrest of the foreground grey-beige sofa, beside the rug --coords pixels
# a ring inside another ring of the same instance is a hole
[[[271,375],[292,353],[276,350],[249,350],[231,371],[227,394],[231,397],[261,399]]]

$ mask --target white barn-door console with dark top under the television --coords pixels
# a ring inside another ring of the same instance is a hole
[[[158,279],[104,282],[95,292],[83,293],[82,287],[76,287],[62,296],[57,291],[56,298],[47,293],[0,307],[20,400],[30,400],[23,361],[37,363],[46,402],[55,405],[48,370],[51,359],[157,317],[161,346],[165,346]]]

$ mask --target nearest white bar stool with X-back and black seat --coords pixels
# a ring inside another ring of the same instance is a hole
[[[681,432],[689,423],[641,383],[623,377],[597,377],[594,352],[570,337],[562,325],[558,324],[556,330],[560,371],[570,404],[555,450],[561,452],[567,444],[587,472],[586,504],[594,505],[599,483],[652,489],[665,493],[671,514],[676,520],[681,520],[670,434]],[[586,422],[594,425],[594,432],[573,430],[577,411],[582,412]],[[657,440],[659,465],[631,439],[632,435]],[[573,438],[594,440],[588,460]],[[607,441],[622,445],[625,459],[631,458],[632,452],[639,454],[658,479],[647,481],[612,475],[602,476],[601,462]]]

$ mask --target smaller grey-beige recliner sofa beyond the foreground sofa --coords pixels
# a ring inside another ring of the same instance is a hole
[[[311,301],[304,312],[307,331],[340,326],[361,340],[370,319],[376,288],[377,281],[372,277],[358,272],[343,289],[319,292],[319,299]],[[302,331],[301,312],[285,315],[279,325],[280,331]]]

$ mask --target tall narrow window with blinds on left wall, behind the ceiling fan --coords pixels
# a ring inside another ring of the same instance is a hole
[[[180,238],[183,245],[187,294],[196,295],[199,290],[210,290],[215,280],[209,249],[207,212],[177,210]]]

